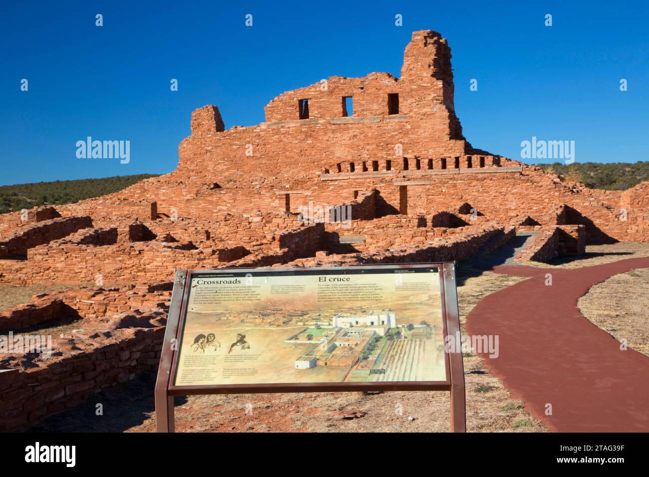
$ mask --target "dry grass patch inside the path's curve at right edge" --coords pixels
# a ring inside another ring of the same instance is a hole
[[[611,276],[577,302],[582,314],[628,347],[649,356],[649,269]]]

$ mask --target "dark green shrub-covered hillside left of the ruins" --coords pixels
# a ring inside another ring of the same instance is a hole
[[[156,174],[0,186],[0,214],[45,204],[71,204],[82,199],[117,192],[149,177],[156,177]]]

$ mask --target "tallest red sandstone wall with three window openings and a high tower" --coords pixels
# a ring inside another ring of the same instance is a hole
[[[284,93],[266,108],[266,122],[222,130],[215,106],[192,115],[192,134],[179,147],[185,176],[239,172],[278,178],[308,177],[329,164],[356,159],[437,158],[471,152],[454,112],[450,49],[439,33],[413,33],[402,77],[371,73],[331,77]],[[399,111],[388,115],[387,95],[398,93]],[[354,116],[343,117],[343,97],[354,98]],[[299,99],[309,100],[309,119],[299,119]],[[280,160],[278,161],[278,158]],[[200,164],[200,165],[199,165]]]

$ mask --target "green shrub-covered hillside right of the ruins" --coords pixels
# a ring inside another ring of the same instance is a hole
[[[583,182],[591,189],[624,190],[649,180],[649,161],[583,162],[574,164],[537,164],[546,172],[562,176],[565,180]]]

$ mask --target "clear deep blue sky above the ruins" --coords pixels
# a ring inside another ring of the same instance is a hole
[[[576,162],[649,160],[644,1],[338,5],[3,1],[0,185],[170,172],[195,108],[216,104],[227,128],[254,125],[273,97],[324,77],[399,76],[420,29],[448,38],[474,147],[517,159],[536,136],[574,140]],[[77,158],[87,136],[129,140],[129,164]]]

